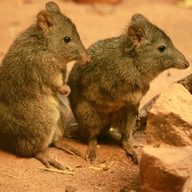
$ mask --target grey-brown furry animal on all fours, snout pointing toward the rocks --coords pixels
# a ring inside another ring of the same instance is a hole
[[[124,34],[87,51],[91,62],[77,62],[68,79],[71,108],[81,132],[89,135],[87,155],[94,161],[97,135],[116,127],[123,149],[137,163],[130,140],[141,98],[162,71],[185,69],[189,63],[170,38],[140,14],[132,17]]]

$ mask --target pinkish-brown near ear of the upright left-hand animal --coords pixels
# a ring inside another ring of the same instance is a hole
[[[41,11],[37,15],[37,24],[43,31],[50,30],[53,27],[53,17],[47,11]]]

